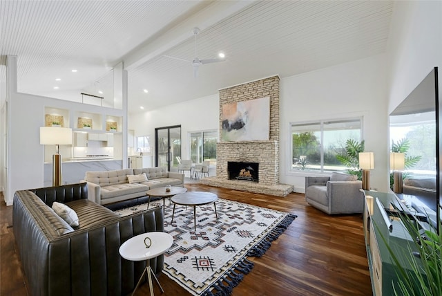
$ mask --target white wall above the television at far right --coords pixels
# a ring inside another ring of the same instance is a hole
[[[390,30],[388,113],[439,67],[442,73],[442,1],[396,1]]]

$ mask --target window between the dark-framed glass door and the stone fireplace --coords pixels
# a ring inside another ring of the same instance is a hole
[[[216,161],[216,142],[218,131],[198,131],[191,133],[192,163],[202,163],[204,160]]]

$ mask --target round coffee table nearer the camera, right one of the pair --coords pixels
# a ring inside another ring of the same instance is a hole
[[[218,195],[213,194],[211,192],[202,192],[202,191],[192,191],[192,192],[184,192],[181,194],[177,194],[171,198],[173,203],[173,212],[172,212],[172,221],[173,215],[175,214],[175,205],[189,205],[193,207],[193,223],[195,224],[196,231],[196,211],[195,207],[197,205],[208,205],[209,203],[213,203],[213,207],[215,207],[215,216],[218,220],[218,214],[216,213],[216,204],[215,201],[218,200]]]

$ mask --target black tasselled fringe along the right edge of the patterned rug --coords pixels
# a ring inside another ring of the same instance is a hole
[[[296,215],[288,214],[285,216],[282,221],[276,227],[269,232],[261,241],[259,241],[249,252],[247,252],[247,256],[250,257],[262,257],[264,253],[269,250],[271,246],[271,242],[275,241],[280,237],[282,232],[284,232],[289,225],[296,219]],[[247,275],[254,264],[252,261],[249,261],[246,257],[244,257],[241,261],[238,261],[235,266],[233,266],[229,272],[224,275],[224,277],[218,279],[212,286],[210,286],[207,290],[202,293],[202,296],[230,296],[233,288],[238,286],[242,281],[244,275]],[[236,272],[238,270],[241,273]],[[213,291],[216,291],[213,294]]]

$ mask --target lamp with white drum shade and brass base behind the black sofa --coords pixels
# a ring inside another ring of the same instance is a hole
[[[40,144],[55,145],[52,155],[52,186],[61,185],[61,155],[59,145],[72,145],[72,129],[68,127],[40,127]]]

